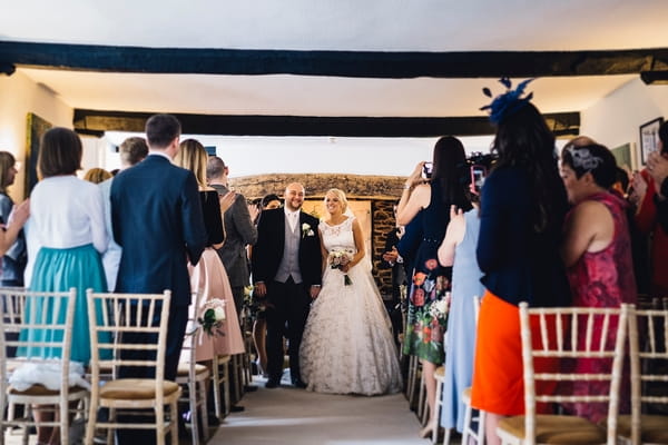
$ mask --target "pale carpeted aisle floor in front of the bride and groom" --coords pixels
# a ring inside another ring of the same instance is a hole
[[[377,397],[308,393],[284,385],[247,393],[243,413],[230,414],[208,444],[415,444],[420,425],[402,394]]]

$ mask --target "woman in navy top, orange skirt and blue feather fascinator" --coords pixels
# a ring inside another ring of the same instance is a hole
[[[559,257],[568,207],[554,154],[554,136],[538,109],[522,97],[528,81],[493,99],[492,150],[499,159],[482,187],[477,258],[483,273],[475,339],[471,405],[487,412],[485,438],[500,443],[502,416],[524,413],[518,304],[570,305]],[[536,327],[532,330],[538,334]],[[556,364],[537,360],[537,372]],[[552,387],[550,387],[552,388]],[[552,388],[553,389],[553,388]],[[548,389],[546,389],[548,390]]]

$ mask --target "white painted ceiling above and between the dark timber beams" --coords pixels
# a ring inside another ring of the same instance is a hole
[[[0,0],[0,40],[283,50],[605,50],[668,46],[666,0]],[[212,115],[482,116],[497,79],[135,75],[19,68],[72,108]],[[635,76],[541,78],[543,112]]]

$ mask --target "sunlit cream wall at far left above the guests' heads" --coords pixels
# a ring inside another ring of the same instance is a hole
[[[53,126],[72,127],[73,110],[58,96],[35,83],[20,72],[12,76],[0,75],[0,150],[10,151],[26,166],[27,116],[32,112]],[[16,201],[23,199],[24,168],[9,188]]]

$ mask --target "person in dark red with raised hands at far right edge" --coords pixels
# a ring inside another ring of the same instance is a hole
[[[633,201],[637,206],[635,227],[649,237],[650,243],[650,297],[668,295],[668,231],[660,224],[659,205],[666,200],[661,192],[662,180],[652,175],[652,168],[668,156],[668,121],[659,127],[658,152],[647,160],[647,168],[633,174]],[[668,187],[667,187],[668,188]]]

